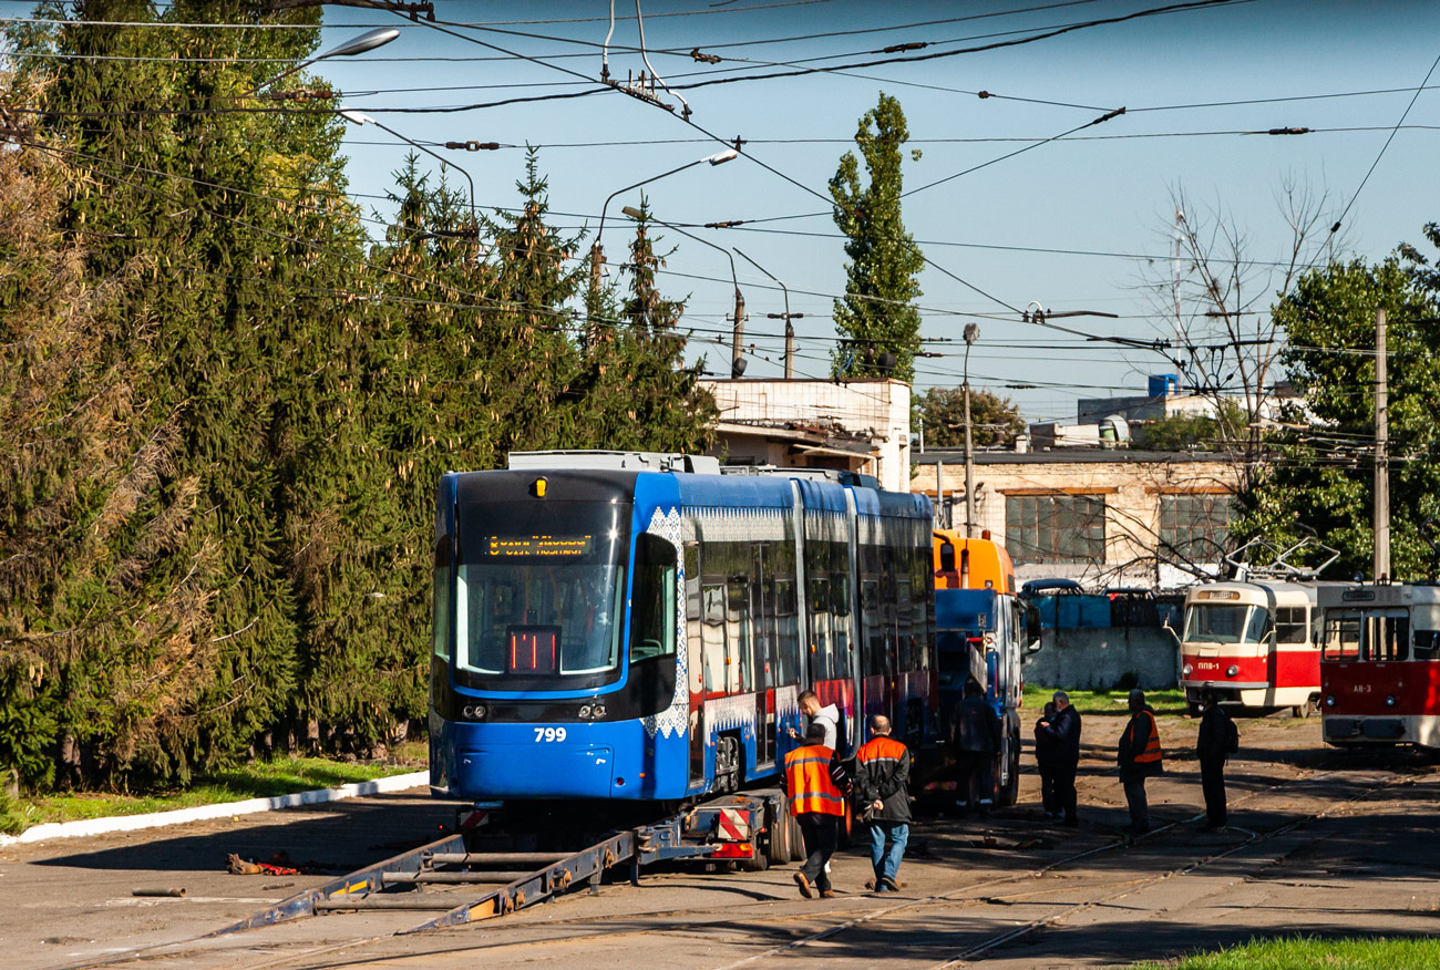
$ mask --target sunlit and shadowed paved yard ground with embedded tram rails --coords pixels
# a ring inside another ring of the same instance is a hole
[[[1162,718],[1168,771],[1151,783],[1161,828],[1125,848],[1113,773],[1122,727],[1119,714],[1086,718],[1080,829],[1041,817],[1027,773],[1021,804],[989,820],[919,820],[900,894],[864,892],[868,859],[851,851],[834,864],[835,899],[801,899],[793,865],[760,874],[672,868],[647,874],[638,888],[572,892],[455,930],[397,937],[422,917],[331,915],[180,943],[144,964],[936,970],[965,958],[1009,970],[1125,966],[1254,935],[1440,930],[1440,840],[1431,838],[1440,771],[1431,764],[1410,753],[1329,751],[1318,721],[1246,720],[1230,770],[1233,828],[1202,833],[1195,722]],[[228,852],[264,859],[284,849],[297,862],[357,868],[429,840],[452,812],[406,793],[84,845],[10,846],[0,851],[4,966],[69,967],[184,941],[324,879],[226,875]],[[171,885],[187,895],[130,895]]]

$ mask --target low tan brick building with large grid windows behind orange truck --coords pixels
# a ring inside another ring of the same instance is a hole
[[[929,450],[914,462],[912,491],[930,495],[940,524],[949,509],[963,528],[963,452]],[[1178,589],[1218,566],[1237,485],[1237,466],[1220,455],[976,452],[975,530],[1005,543],[1020,581]]]

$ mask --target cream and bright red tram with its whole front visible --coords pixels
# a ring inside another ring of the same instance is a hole
[[[1189,590],[1179,649],[1191,711],[1211,688],[1221,704],[1313,714],[1320,698],[1320,586],[1264,579]]]

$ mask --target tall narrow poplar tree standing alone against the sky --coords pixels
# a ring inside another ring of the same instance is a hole
[[[916,273],[924,258],[901,219],[901,148],[909,140],[900,102],[884,92],[864,114],[855,131],[855,145],[864,158],[847,151],[829,180],[835,201],[835,225],[845,233],[845,296],[835,301],[835,328],[845,335],[834,354],[835,377],[914,379],[914,354],[920,348],[920,296]],[[919,158],[920,153],[912,153]],[[894,367],[883,355],[894,354]]]

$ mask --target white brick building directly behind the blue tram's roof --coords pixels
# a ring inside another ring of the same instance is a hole
[[[910,491],[910,386],[888,379],[704,380],[727,465],[838,468]]]

